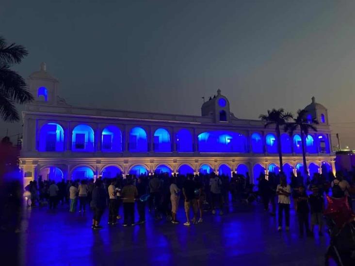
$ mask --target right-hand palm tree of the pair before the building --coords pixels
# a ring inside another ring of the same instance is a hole
[[[297,117],[293,119],[293,122],[287,123],[285,125],[285,132],[288,131],[290,136],[293,135],[294,131],[300,129],[301,131],[301,145],[302,145],[302,156],[303,156],[303,171],[305,176],[307,176],[307,161],[306,161],[306,145],[305,140],[307,138],[309,130],[317,132],[318,121],[316,118],[312,117],[311,119],[306,117],[307,110],[298,110]]]

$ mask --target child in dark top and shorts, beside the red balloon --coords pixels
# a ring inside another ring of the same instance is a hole
[[[319,193],[319,189],[316,186],[312,186],[312,194],[309,195],[309,205],[311,211],[311,233],[313,235],[314,225],[318,224],[319,226],[319,235],[323,235],[322,226],[323,226],[323,210],[324,210],[324,199],[323,196]]]

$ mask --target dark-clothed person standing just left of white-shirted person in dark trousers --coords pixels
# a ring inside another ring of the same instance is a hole
[[[106,192],[100,179],[97,179],[94,185],[95,188],[93,190],[90,206],[94,210],[93,224],[91,228],[96,230],[102,228],[99,223],[106,207]]]

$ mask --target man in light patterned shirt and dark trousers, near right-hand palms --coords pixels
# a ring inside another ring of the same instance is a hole
[[[280,184],[276,187],[278,195],[278,231],[282,230],[283,212],[285,213],[286,231],[290,231],[290,194],[291,187],[286,182],[286,176],[280,174]]]

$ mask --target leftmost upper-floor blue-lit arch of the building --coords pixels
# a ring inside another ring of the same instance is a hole
[[[39,152],[63,152],[64,130],[56,123],[47,123],[41,127],[38,140]]]

